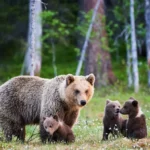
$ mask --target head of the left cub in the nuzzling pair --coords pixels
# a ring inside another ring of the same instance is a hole
[[[119,101],[106,101],[106,107],[105,107],[105,115],[107,115],[110,118],[118,117],[119,111],[120,111],[120,103]]]

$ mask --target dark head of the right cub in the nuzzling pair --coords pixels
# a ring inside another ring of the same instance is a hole
[[[120,109],[120,113],[124,115],[134,115],[136,116],[140,111],[139,103],[133,97],[130,97],[128,101],[126,101],[123,107]]]

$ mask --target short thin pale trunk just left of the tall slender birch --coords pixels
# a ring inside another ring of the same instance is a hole
[[[125,32],[125,42],[126,42],[126,51],[127,51],[127,76],[128,76],[128,87],[131,87],[133,84],[132,79],[132,63],[131,63],[131,50],[129,48],[129,35],[127,31]]]

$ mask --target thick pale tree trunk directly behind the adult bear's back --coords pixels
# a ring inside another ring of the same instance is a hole
[[[28,49],[26,51],[21,74],[39,75],[41,70],[41,36],[42,22],[40,13],[42,12],[41,2],[30,0],[29,29],[28,29]]]

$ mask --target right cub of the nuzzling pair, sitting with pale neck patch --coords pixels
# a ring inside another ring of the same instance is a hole
[[[141,111],[137,100],[130,97],[120,109],[120,113],[129,116],[126,122],[127,138],[141,139],[147,136],[145,115]]]

